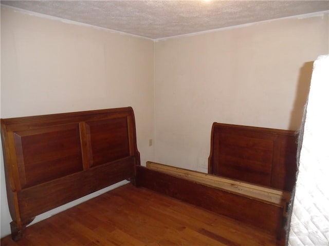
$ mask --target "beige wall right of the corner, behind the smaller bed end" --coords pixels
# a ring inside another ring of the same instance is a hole
[[[155,159],[207,171],[212,122],[297,130],[328,15],[155,43]]]

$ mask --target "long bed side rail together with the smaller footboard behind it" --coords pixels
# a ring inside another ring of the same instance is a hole
[[[214,122],[208,173],[148,162],[137,185],[285,238],[296,180],[294,131]],[[213,174],[213,175],[211,175]]]

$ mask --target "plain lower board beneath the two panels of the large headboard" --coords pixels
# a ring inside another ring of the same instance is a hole
[[[17,192],[23,218],[32,218],[69,201],[134,176],[134,157],[90,168]],[[69,188],[69,189],[68,189]]]

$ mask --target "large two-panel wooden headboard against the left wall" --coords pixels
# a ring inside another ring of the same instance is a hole
[[[1,119],[14,240],[36,215],[124,179],[140,165],[132,108]]]

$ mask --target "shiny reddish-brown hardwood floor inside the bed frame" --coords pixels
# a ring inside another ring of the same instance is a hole
[[[261,216],[261,215],[260,215]],[[35,223],[1,245],[281,245],[275,237],[131,184]]]

